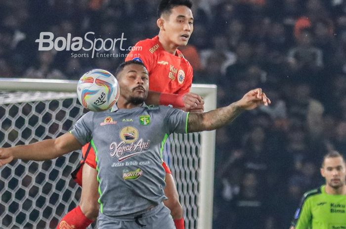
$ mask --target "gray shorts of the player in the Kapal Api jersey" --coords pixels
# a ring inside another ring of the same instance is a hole
[[[139,215],[98,215],[98,229],[175,229],[171,211],[163,202]]]

